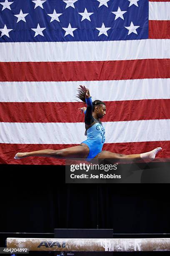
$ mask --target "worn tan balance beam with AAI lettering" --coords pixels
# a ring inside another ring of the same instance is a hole
[[[170,238],[7,238],[29,251],[170,251]]]

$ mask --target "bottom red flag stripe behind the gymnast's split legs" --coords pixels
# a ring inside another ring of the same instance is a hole
[[[17,152],[29,152],[46,148],[62,149],[76,145],[45,145],[45,144],[0,144],[0,164],[41,164],[41,165],[61,165],[65,164],[63,159],[54,159],[48,157],[29,157],[22,160],[13,159]],[[132,143],[112,143],[104,144],[103,150],[112,151],[121,154],[140,154],[156,147],[162,147],[163,150],[158,154],[158,158],[164,159],[170,157],[170,141],[152,141],[152,142],[132,142]]]

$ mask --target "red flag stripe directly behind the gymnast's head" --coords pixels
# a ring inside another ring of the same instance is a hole
[[[102,122],[170,119],[170,100],[107,101]],[[0,122],[78,123],[84,122],[79,102],[0,102]],[[19,113],[18,113],[19,111]]]

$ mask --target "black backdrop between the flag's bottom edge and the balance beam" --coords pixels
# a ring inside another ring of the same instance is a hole
[[[170,233],[170,184],[65,184],[65,166],[1,165],[0,178],[0,232]]]

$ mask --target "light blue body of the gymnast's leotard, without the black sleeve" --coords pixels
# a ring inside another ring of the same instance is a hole
[[[90,101],[91,98],[89,102]],[[91,104],[92,101],[89,103],[89,105]],[[99,120],[96,120],[95,118],[93,119],[96,121],[96,123],[87,129],[87,140],[82,141],[82,143],[85,143],[90,150],[87,159],[94,158],[97,154],[99,154],[102,151],[102,146],[105,142],[105,128],[102,126],[102,123]]]

